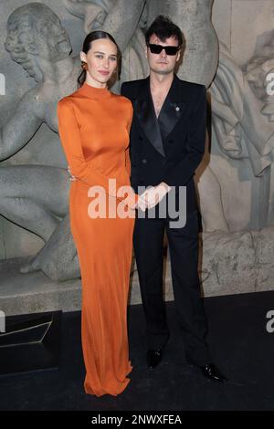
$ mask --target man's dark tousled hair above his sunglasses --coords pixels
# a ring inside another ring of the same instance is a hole
[[[147,46],[153,34],[159,37],[162,42],[165,42],[165,39],[168,37],[174,37],[178,40],[179,47],[182,47],[184,44],[182,31],[167,16],[157,16],[153,24],[147,29],[145,33],[145,43]]]

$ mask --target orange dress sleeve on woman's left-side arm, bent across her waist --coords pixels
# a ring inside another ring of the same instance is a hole
[[[72,175],[90,186],[102,186],[107,194],[117,198],[116,194],[112,194],[109,189],[109,178],[92,166],[92,160],[85,160],[79,136],[79,124],[69,99],[61,99],[58,102],[58,131]],[[123,167],[121,165],[121,170]],[[124,181],[121,182],[119,177],[114,178],[116,179],[116,190],[125,186]]]

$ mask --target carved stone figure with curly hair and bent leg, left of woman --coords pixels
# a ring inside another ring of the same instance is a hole
[[[80,72],[79,59],[70,56],[67,32],[47,5],[23,5],[9,16],[5,48],[37,85],[26,91],[2,127],[2,161],[20,151],[42,123],[58,132],[58,99],[77,89]],[[22,272],[42,269],[58,280],[79,276],[78,256],[69,233],[68,188],[68,173],[62,168],[1,167],[0,213],[46,243]]]

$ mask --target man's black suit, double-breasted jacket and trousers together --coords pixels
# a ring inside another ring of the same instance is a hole
[[[121,94],[132,100],[132,187],[167,183],[186,186],[186,225],[170,227],[170,218],[137,218],[134,253],[149,349],[163,348],[168,339],[163,302],[163,232],[169,242],[174,300],[182,323],[186,356],[203,365],[210,361],[205,343],[206,320],[197,274],[198,218],[193,176],[205,152],[206,93],[174,76],[156,118],[150,78],[124,83]]]

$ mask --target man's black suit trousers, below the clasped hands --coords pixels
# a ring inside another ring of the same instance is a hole
[[[200,296],[197,211],[186,216],[186,225],[170,227],[169,219],[136,218],[133,235],[142,306],[149,349],[163,348],[169,337],[163,301],[163,233],[169,244],[174,302],[182,327],[187,361],[211,361],[205,342],[207,323]]]

